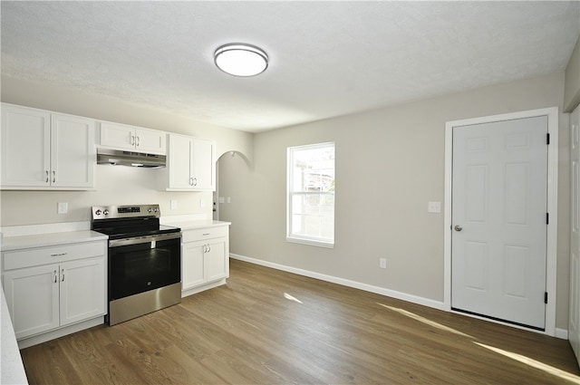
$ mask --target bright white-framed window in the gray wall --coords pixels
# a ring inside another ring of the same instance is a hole
[[[334,143],[288,148],[289,242],[334,245]]]

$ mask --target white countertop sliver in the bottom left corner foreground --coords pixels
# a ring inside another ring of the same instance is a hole
[[[2,291],[2,303],[0,304],[0,355],[2,356],[0,359],[0,383],[27,384],[26,372],[18,350],[2,285],[0,285],[0,291]]]

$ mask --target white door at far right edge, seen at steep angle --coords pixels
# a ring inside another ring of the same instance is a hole
[[[570,115],[572,224],[570,226],[570,317],[568,338],[580,364],[580,106]]]

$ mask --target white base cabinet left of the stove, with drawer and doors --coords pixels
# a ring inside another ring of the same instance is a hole
[[[106,314],[106,241],[2,253],[17,340]]]

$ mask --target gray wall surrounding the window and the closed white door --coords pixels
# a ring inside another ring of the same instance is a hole
[[[443,301],[445,122],[558,107],[564,72],[415,101],[378,111],[256,134],[252,170],[219,161],[220,219],[232,222],[230,250],[269,263]],[[559,143],[556,327],[567,329],[569,260],[568,120]],[[336,144],[335,246],[285,242],[286,148]],[[387,269],[379,268],[379,257]]]

